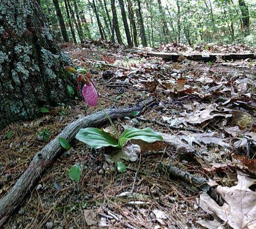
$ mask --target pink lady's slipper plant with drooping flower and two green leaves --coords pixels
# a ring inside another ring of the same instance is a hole
[[[112,136],[111,134],[101,129],[84,128],[79,130],[79,132],[76,135],[76,139],[83,143],[86,143],[88,146],[91,146],[94,149],[99,149],[107,146],[112,146],[121,149],[131,139],[142,140],[148,143],[163,140],[163,137],[160,134],[154,132],[151,128],[145,128],[142,130],[136,128],[126,128],[124,132],[121,133],[121,135],[118,135],[114,123],[112,122],[111,118],[108,116],[107,112],[101,104],[101,101],[99,99],[99,93],[96,90],[91,75],[87,73],[87,71],[83,68],[75,69],[70,66],[67,66],[66,69],[71,73],[78,73],[78,84],[84,84],[82,88],[82,95],[86,100],[87,104],[92,107],[99,105],[102,111],[105,113],[107,119],[109,120],[115,132],[115,136]],[[78,89],[80,90],[80,85],[78,85]],[[120,163],[121,162],[119,162],[119,164]]]

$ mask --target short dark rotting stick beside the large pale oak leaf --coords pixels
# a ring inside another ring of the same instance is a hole
[[[168,164],[168,166],[166,166],[166,170],[170,179],[185,181],[187,184],[196,186],[197,189],[208,193],[209,196],[211,196],[216,202],[218,201],[220,204],[223,203],[220,195],[218,195],[215,189],[208,184],[208,180],[204,179],[203,177],[195,176],[190,172],[173,166],[172,164]]]

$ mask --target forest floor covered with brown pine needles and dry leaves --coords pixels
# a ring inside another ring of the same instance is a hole
[[[161,50],[187,51],[184,48],[170,44]],[[142,147],[137,161],[125,161],[125,173],[107,163],[104,149],[92,150],[75,141],[47,168],[5,228],[200,228],[196,221],[213,218],[199,207],[198,187],[169,177],[161,171],[162,164],[204,177],[213,187],[234,186],[241,172],[255,179],[255,60],[172,62],[131,54],[102,41],[63,44],[63,49],[74,65],[91,73],[105,108],[156,98],[157,105],[137,117],[116,120],[119,131],[123,125],[149,126],[177,141],[173,146]],[[246,51],[243,46],[208,45],[206,49]],[[105,65],[109,63],[116,67]],[[9,125],[0,132],[4,149],[0,198],[36,152],[66,125],[98,110],[77,98],[73,104],[51,108],[41,118]],[[107,126],[103,123],[99,128]],[[13,133],[6,137],[9,130]],[[48,139],[40,138],[43,130],[50,132]],[[82,165],[78,183],[68,174],[76,163]],[[255,187],[251,189],[255,193]]]

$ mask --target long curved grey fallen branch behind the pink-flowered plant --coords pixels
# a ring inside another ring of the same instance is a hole
[[[151,98],[131,108],[107,109],[106,112],[112,119],[131,116],[133,112],[143,110],[143,108],[150,106],[154,101]],[[10,215],[20,206],[26,194],[40,179],[45,168],[63,151],[63,148],[58,142],[58,137],[64,137],[70,142],[81,128],[97,126],[105,121],[107,121],[107,118],[102,111],[80,118],[66,126],[56,138],[34,156],[29,167],[20,176],[13,188],[0,199],[0,228],[3,228],[4,223],[9,219]]]

